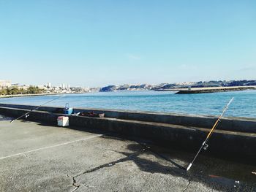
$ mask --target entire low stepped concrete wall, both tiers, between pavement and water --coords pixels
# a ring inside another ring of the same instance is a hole
[[[36,106],[0,104],[0,114],[18,117]],[[40,107],[31,112],[28,120],[56,125],[63,115],[62,107]],[[111,131],[127,137],[150,139],[159,145],[171,145],[184,150],[196,151],[208,131],[217,120],[214,116],[178,115],[170,113],[132,112],[124,110],[98,110],[75,108],[75,112],[105,113],[105,118],[69,115],[70,128],[94,128]],[[207,153],[256,160],[256,120],[249,118],[223,118],[208,142]],[[247,159],[248,160],[248,159]]]

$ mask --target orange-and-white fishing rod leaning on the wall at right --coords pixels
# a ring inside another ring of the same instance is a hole
[[[207,142],[208,142],[208,139],[210,139],[211,137],[211,134],[213,133],[214,131],[214,128],[217,128],[217,126],[219,125],[220,123],[220,119],[222,118],[222,116],[224,115],[224,113],[227,111],[228,109],[228,106],[231,104],[231,102],[233,101],[233,97],[232,99],[230,99],[230,101],[227,103],[227,105],[224,107],[224,110],[222,111],[222,114],[219,115],[219,118],[217,119],[217,121],[214,123],[214,126],[211,128],[211,131],[208,133],[207,137],[206,137],[206,140],[202,143],[200,149],[198,150],[197,154],[195,155],[195,157],[193,158],[193,160],[191,161],[191,163],[189,164],[189,166],[187,166],[187,171],[190,169],[190,167],[192,166],[192,164],[194,163],[195,159],[197,158],[197,155],[200,153],[200,151],[202,149],[206,150],[206,148],[208,147],[207,145]]]

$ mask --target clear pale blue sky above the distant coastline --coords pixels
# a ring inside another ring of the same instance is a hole
[[[0,0],[0,79],[256,79],[256,1]]]

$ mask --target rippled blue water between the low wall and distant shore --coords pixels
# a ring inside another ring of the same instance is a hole
[[[0,103],[40,105],[59,96],[29,96],[0,99]],[[174,94],[157,91],[119,91],[67,94],[48,106],[87,107],[147,112],[176,112],[195,115],[219,115],[234,97],[226,116],[256,118],[256,91]]]

